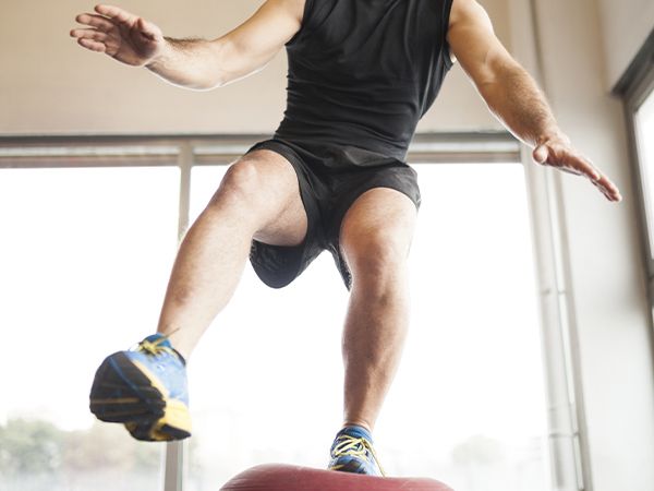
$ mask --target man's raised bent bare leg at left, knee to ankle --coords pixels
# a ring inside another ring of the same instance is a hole
[[[233,295],[252,239],[296,246],[306,227],[291,164],[267,149],[243,156],[228,169],[180,246],[158,332],[169,335],[187,358]]]

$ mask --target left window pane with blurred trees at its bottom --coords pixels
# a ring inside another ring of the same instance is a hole
[[[160,489],[161,447],[88,411],[95,369],[156,325],[174,167],[0,170],[0,489]]]

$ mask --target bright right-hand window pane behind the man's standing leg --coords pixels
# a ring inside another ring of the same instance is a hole
[[[516,164],[420,164],[412,327],[376,429],[395,476],[455,489],[548,489],[525,184]],[[192,215],[222,167],[195,168]],[[324,467],[341,423],[347,290],[324,253],[283,290],[250,267],[190,363],[187,489],[253,465]],[[407,423],[411,421],[411,423]]]

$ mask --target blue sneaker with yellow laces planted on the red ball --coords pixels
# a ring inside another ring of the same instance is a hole
[[[361,427],[346,427],[336,434],[331,444],[329,470],[384,476],[377,462],[371,434]]]

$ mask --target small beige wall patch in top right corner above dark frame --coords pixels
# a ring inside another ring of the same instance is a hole
[[[602,16],[607,87],[614,87],[654,29],[652,0],[597,0]]]

